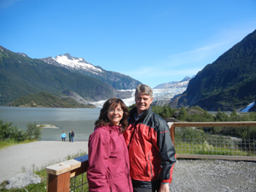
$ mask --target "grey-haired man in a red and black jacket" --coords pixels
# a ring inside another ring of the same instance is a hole
[[[168,192],[176,162],[169,127],[151,109],[152,95],[148,85],[137,86],[136,108],[131,109],[124,132],[134,192]]]

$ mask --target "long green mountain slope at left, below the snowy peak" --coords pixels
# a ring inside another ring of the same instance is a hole
[[[0,105],[38,92],[63,96],[66,90],[88,101],[99,101],[118,94],[112,86],[98,79],[31,59],[0,46]]]

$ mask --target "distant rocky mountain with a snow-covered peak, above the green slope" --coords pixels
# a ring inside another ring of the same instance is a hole
[[[132,79],[127,75],[107,71],[102,69],[102,67],[95,67],[83,58],[73,57],[70,54],[57,55],[55,58],[47,57],[42,60],[55,66],[66,67],[73,72],[82,73],[86,76],[100,79],[113,86],[116,90],[131,90],[135,89],[137,84],[141,84],[141,82]]]

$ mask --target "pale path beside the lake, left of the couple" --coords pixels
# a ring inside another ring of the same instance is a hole
[[[88,152],[87,142],[38,141],[3,148],[0,150],[0,183],[19,172],[41,169],[79,152]]]

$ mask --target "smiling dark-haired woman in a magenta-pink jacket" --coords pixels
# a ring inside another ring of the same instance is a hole
[[[129,111],[125,103],[111,98],[104,103],[95,131],[89,138],[89,191],[131,192],[130,164],[123,132]]]

